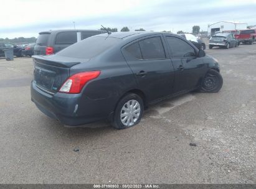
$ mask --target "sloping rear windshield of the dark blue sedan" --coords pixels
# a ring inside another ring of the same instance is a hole
[[[89,37],[76,44],[70,45],[57,54],[63,57],[73,58],[93,58],[108,48],[113,47],[122,39],[113,37]]]

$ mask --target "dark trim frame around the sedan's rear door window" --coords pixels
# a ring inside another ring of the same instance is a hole
[[[161,43],[162,43],[162,45],[163,45],[164,57],[165,57],[165,58],[149,58],[149,59],[144,59],[144,58],[143,58],[142,51],[141,51],[140,41],[145,40],[145,39],[154,38],[154,37],[159,37],[159,38],[160,38]],[[136,60],[140,60],[140,61],[145,61],[145,60],[167,60],[167,59],[169,59],[169,58],[168,58],[168,56],[167,56],[166,47],[165,47],[165,45],[164,45],[163,40],[164,40],[164,39],[163,39],[163,35],[161,35],[161,34],[160,34],[160,35],[159,35],[159,34],[153,34],[153,35],[149,35],[149,36],[146,36],[146,37],[141,37],[140,39],[133,40],[132,42],[130,42],[130,43],[124,45],[123,47],[121,47],[121,51],[125,50],[125,48],[128,47],[128,46],[130,46],[130,45],[133,45],[133,44],[138,43],[138,45],[139,45],[139,47],[140,47],[140,53],[141,53],[142,59],[139,59],[139,58],[136,58],[136,57],[133,57],[133,56],[132,56],[132,57],[135,58]],[[126,50],[125,50],[125,51],[126,51]]]

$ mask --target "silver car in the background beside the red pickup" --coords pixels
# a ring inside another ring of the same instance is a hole
[[[230,47],[238,47],[239,41],[235,39],[234,34],[230,33],[218,33],[215,35],[212,35],[209,41],[209,48],[212,47],[224,47],[224,48],[230,48]]]

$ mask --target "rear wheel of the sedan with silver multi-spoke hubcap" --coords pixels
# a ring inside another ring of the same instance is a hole
[[[130,109],[132,104],[134,104],[133,107],[135,107],[136,104],[137,105],[135,108]],[[138,109],[140,109],[140,111],[138,111]],[[131,111],[135,111],[135,112],[131,114]],[[126,129],[128,127],[135,126],[140,122],[143,112],[144,112],[143,99],[141,99],[141,97],[135,93],[128,93],[125,96],[123,96],[123,98],[121,98],[118,104],[116,105],[115,113],[114,113],[111,125],[116,129]],[[128,115],[125,116],[125,114],[128,114]],[[124,118],[123,121],[121,118]]]

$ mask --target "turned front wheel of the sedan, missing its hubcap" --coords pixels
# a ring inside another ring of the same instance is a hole
[[[202,80],[200,91],[204,93],[217,93],[222,88],[223,78],[216,70],[209,70]]]

